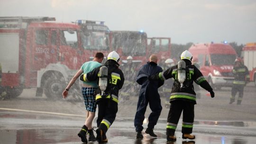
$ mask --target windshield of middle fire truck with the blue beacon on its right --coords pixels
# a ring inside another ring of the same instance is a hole
[[[123,55],[146,55],[146,35],[143,33],[117,33],[114,34],[114,41],[114,47],[121,48]]]

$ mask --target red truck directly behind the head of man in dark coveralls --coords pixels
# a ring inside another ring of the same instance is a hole
[[[156,54],[159,58],[159,65],[163,66],[165,60],[171,58],[171,38],[169,37],[148,37],[147,57]]]

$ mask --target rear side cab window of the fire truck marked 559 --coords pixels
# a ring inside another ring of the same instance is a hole
[[[36,30],[36,44],[47,45],[48,44],[48,30],[38,29]]]

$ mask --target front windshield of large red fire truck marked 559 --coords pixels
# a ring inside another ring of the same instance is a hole
[[[107,50],[109,48],[109,35],[105,32],[90,32],[82,34],[84,49]]]

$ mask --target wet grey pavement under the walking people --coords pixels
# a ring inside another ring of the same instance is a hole
[[[230,90],[216,90],[213,99],[201,90],[201,99],[197,99],[195,106],[193,134],[196,139],[182,139],[180,119],[175,132],[176,142],[166,142],[169,109],[164,107],[164,97],[163,110],[154,129],[157,139],[143,132],[142,140],[136,139],[133,126],[138,98],[121,97],[117,118],[107,133],[108,144],[256,144],[255,86],[247,85],[241,105],[229,104]],[[148,107],[145,117],[149,113]],[[45,95],[35,97],[34,89],[24,90],[16,99],[0,101],[0,144],[82,144],[77,133],[84,116],[83,102],[72,96],[50,100]],[[96,126],[95,120],[93,126]],[[147,126],[147,119],[143,126]]]

